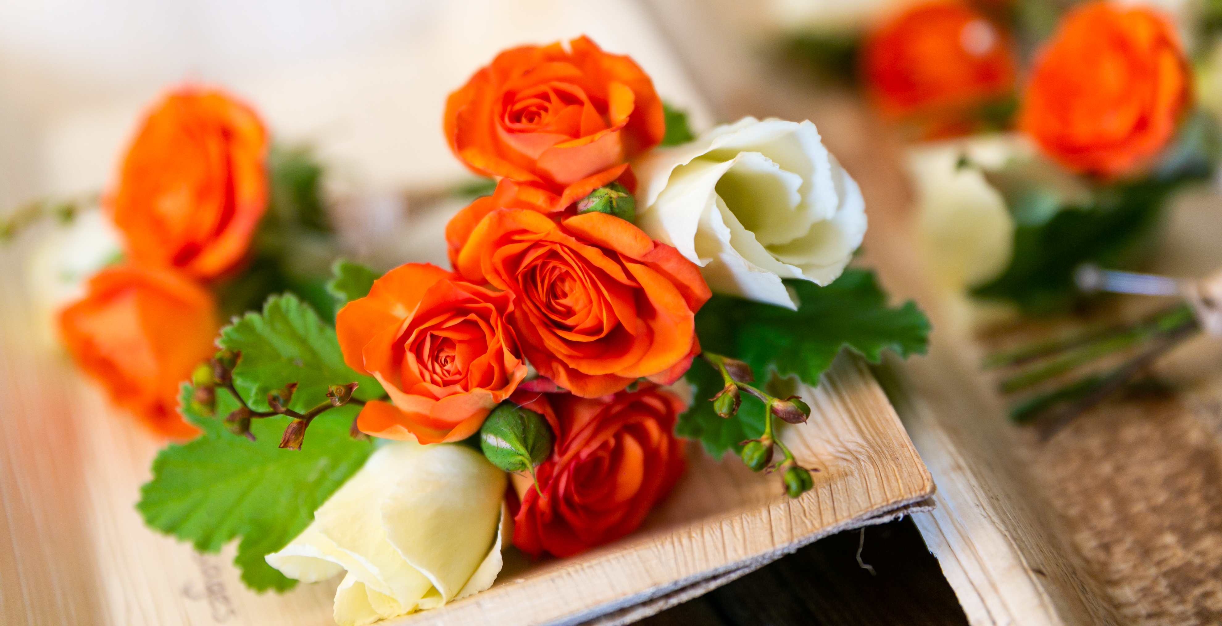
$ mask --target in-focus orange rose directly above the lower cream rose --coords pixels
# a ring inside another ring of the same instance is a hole
[[[335,317],[343,360],[378,378],[391,403],[360,411],[362,432],[420,443],[466,439],[527,376],[505,316],[513,295],[401,265]]]

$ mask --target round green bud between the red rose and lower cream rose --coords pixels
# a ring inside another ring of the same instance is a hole
[[[507,471],[533,471],[551,455],[554,437],[543,415],[503,401],[479,430],[479,447],[488,460]]]

